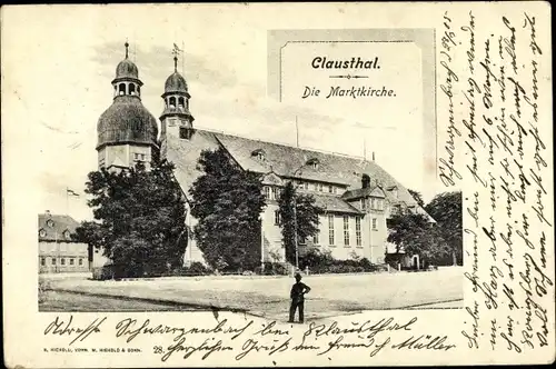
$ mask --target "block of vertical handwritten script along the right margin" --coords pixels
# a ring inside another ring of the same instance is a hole
[[[490,21],[473,11],[444,14],[439,99],[448,134],[439,172],[446,187],[464,188],[471,299],[461,335],[471,349],[523,353],[554,336],[552,117],[539,87],[550,46],[537,40],[534,14]]]

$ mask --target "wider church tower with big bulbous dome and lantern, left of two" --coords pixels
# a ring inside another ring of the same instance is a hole
[[[142,162],[147,169],[158,156],[158,123],[141,102],[142,82],[137,66],[128,57],[116,68],[112,104],[97,124],[100,168],[120,170]]]

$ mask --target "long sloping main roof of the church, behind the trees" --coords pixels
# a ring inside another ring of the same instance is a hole
[[[416,205],[409,191],[376,162],[199,129],[195,130],[189,140],[168,136],[167,157],[176,166],[176,177],[186,192],[197,177],[202,174],[197,169],[201,151],[215,150],[219,146],[222,146],[245,170],[260,173],[272,171],[280,177],[344,184],[353,189],[360,188],[361,176],[366,173],[370,177],[371,182],[378,182],[383,188],[396,186],[398,196],[395,201]],[[257,156],[252,154],[256,150],[265,152],[264,160],[259,160]],[[318,163],[316,168],[307,164],[311,160]],[[301,170],[298,170],[299,168]],[[388,198],[389,191],[385,192]],[[337,199],[345,203],[340,198]],[[394,200],[393,197],[389,199]],[[334,201],[336,203],[336,200]],[[339,207],[339,205],[337,206]],[[347,203],[346,206],[349,207],[346,210],[357,211],[351,206]]]

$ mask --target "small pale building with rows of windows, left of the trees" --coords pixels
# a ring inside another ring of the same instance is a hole
[[[72,240],[79,223],[69,216],[39,215],[39,272],[83,272],[90,270],[89,246]]]

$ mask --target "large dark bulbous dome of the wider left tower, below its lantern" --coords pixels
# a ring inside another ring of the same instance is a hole
[[[100,116],[97,132],[97,150],[116,143],[157,144],[158,124],[140,99],[120,96]]]

